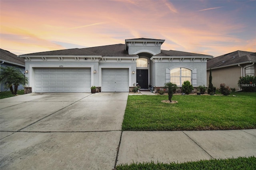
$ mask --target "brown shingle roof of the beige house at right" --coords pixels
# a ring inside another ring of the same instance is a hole
[[[256,62],[256,53],[248,51],[234,51],[228,54],[220,55],[207,61],[207,69],[234,65],[246,61]]]

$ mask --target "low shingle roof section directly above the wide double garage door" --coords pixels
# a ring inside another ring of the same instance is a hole
[[[82,50],[79,48],[73,48],[73,49],[61,49],[61,50],[55,50],[55,51],[23,54],[20,56],[24,56],[24,55],[98,55],[98,54],[95,54],[86,50]]]

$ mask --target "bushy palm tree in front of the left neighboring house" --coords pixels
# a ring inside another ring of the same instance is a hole
[[[28,78],[23,75],[20,68],[7,66],[1,67],[0,81],[4,83],[5,87],[10,88],[13,95],[16,95],[18,86],[27,83]]]

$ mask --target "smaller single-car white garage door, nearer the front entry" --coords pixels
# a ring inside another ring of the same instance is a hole
[[[129,92],[129,69],[102,69],[102,92]]]

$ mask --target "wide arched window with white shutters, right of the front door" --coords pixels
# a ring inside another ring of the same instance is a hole
[[[181,86],[184,81],[190,81],[191,83],[191,70],[186,68],[175,68],[170,70],[171,83]]]

